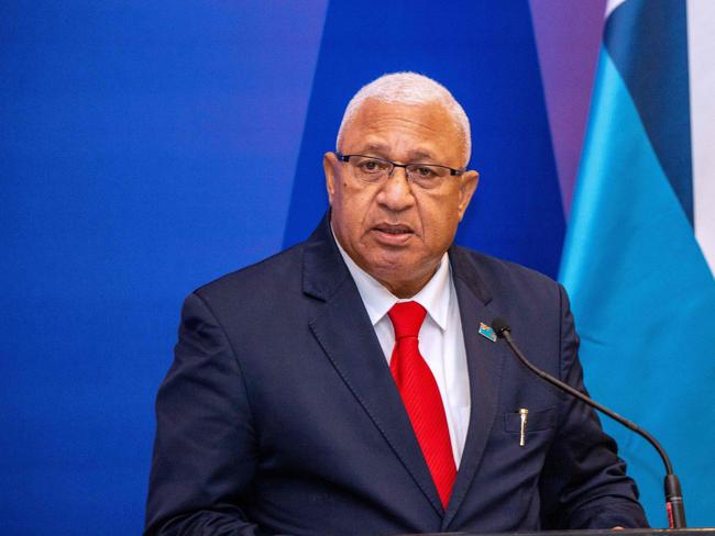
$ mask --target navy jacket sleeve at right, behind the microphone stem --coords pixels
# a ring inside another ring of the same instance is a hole
[[[586,392],[579,361],[579,336],[569,300],[561,299],[561,380]],[[542,528],[647,527],[635,482],[594,410],[563,393],[559,428],[540,482]]]

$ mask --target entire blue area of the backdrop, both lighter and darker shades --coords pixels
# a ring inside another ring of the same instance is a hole
[[[557,276],[529,4],[495,5],[0,5],[0,532],[141,531],[183,298],[312,230],[342,110],[385,71],[472,119],[460,242]]]

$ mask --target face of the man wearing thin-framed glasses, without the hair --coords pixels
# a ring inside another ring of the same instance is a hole
[[[345,125],[340,152],[398,164],[463,166],[453,120],[437,103],[395,104],[367,100]],[[399,298],[429,281],[454,239],[479,175],[450,176],[436,189],[411,185],[403,168],[366,185],[334,154],[323,159],[332,227],[338,242],[367,273]]]

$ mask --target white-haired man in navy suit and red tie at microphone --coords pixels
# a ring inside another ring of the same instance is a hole
[[[198,289],[157,398],[147,534],[646,526],[583,389],[563,289],[452,245],[479,175],[416,74],[350,102],[307,242]]]

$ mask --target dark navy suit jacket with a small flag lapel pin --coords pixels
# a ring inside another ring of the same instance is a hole
[[[326,219],[187,298],[157,397],[147,534],[645,526],[594,413],[479,334],[508,319],[538,367],[583,390],[563,289],[461,247],[449,257],[472,407],[447,511]]]

